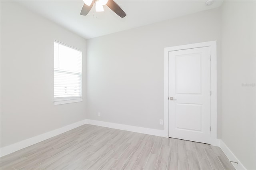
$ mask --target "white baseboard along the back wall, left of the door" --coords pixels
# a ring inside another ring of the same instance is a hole
[[[116,128],[116,129],[120,129],[120,130],[131,131],[131,132],[151,134],[151,135],[155,135],[155,136],[168,137],[168,136],[166,136],[166,131],[158,130],[158,129],[152,129],[152,128],[122,125],[122,124],[118,124],[118,123],[95,121],[95,120],[91,120],[91,119],[86,119],[86,124],[97,125],[97,126],[100,126],[100,127]]]

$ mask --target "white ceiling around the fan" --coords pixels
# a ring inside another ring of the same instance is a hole
[[[206,6],[205,0],[115,0],[127,14],[120,18],[106,5],[104,12],[95,12],[93,7],[87,16],[82,16],[82,0],[16,2],[86,39],[217,8],[222,4],[222,0],[215,0],[211,6]]]

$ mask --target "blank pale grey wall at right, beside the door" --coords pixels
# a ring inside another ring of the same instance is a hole
[[[256,169],[255,1],[222,4],[221,138],[246,169]]]

